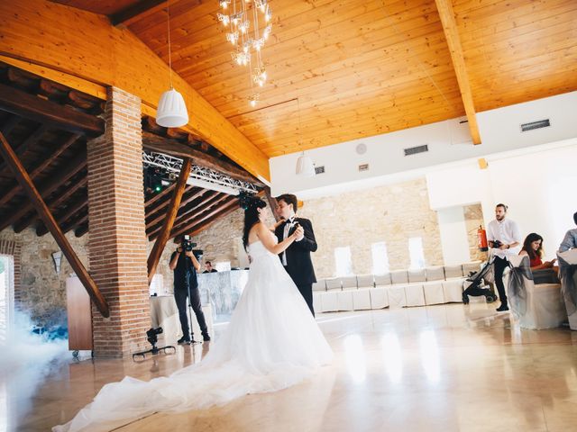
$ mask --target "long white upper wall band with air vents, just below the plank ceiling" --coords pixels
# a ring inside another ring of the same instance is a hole
[[[423,175],[433,166],[465,159],[476,160],[496,153],[531,148],[577,137],[577,92],[519,103],[477,114],[482,144],[473,146],[467,124],[461,119],[441,121],[408,130],[399,130],[366,139],[356,139],[324,148],[307,150],[325,174],[302,178],[295,174],[299,154],[270,158],[271,191],[297,193],[304,199],[339,193],[368,185],[389,183],[391,175]],[[548,118],[551,127],[520,132],[520,123]],[[367,151],[359,155],[360,143]],[[427,144],[427,153],[405,157],[404,148]],[[370,169],[359,172],[360,164]]]

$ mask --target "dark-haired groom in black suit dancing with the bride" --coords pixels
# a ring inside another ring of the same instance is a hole
[[[313,283],[316,282],[315,269],[310,259],[310,253],[316,251],[316,239],[313,232],[313,225],[310,220],[298,218],[295,214],[297,211],[298,200],[295,195],[285,193],[277,197],[277,214],[284,220],[274,230],[279,242],[289,237],[297,225],[300,225],[305,234],[297,238],[283,253],[279,255],[282,265],[287,273],[297,285],[298,291],[305,298],[308,309],[313,317]]]

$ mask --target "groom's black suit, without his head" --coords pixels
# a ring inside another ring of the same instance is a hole
[[[294,222],[298,222],[305,230],[305,237],[300,241],[293,241],[285,250],[287,254],[287,265],[285,269],[297,285],[298,291],[305,298],[308,309],[310,309],[313,316],[315,316],[315,310],[313,309],[313,283],[316,282],[316,276],[313,262],[310,259],[310,253],[316,251],[315,233],[313,232],[313,225],[310,223],[310,220],[294,218]],[[287,221],[281,223],[274,231],[279,242],[284,239],[285,225],[287,223]],[[288,236],[291,235],[295,229],[297,228],[292,226]],[[282,254],[279,254],[279,258],[282,262]]]

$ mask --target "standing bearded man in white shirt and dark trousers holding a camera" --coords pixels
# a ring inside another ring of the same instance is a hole
[[[493,249],[492,252],[495,256],[495,261],[493,262],[495,266],[495,284],[497,285],[501,301],[501,305],[497,308],[498,312],[508,311],[503,272],[508,267],[508,257],[518,255],[521,244],[521,234],[517,222],[505,219],[506,215],[507,206],[505,204],[497,204],[495,207],[495,220],[491,220],[487,227],[489,247]]]

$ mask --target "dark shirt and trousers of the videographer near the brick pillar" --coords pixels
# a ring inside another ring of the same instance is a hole
[[[172,253],[170,261],[174,258],[176,252]],[[188,262],[187,262],[188,261]],[[188,297],[188,282],[190,284],[190,306],[197,316],[198,326],[203,335],[208,334],[206,327],[205,314],[202,311],[200,303],[200,293],[198,292],[197,270],[192,265],[192,259],[187,257],[184,252],[180,253],[177,266],[174,268],[174,300],[179,308],[180,328],[182,329],[182,336],[188,338],[192,336],[192,332],[188,328],[187,316],[187,297]]]

